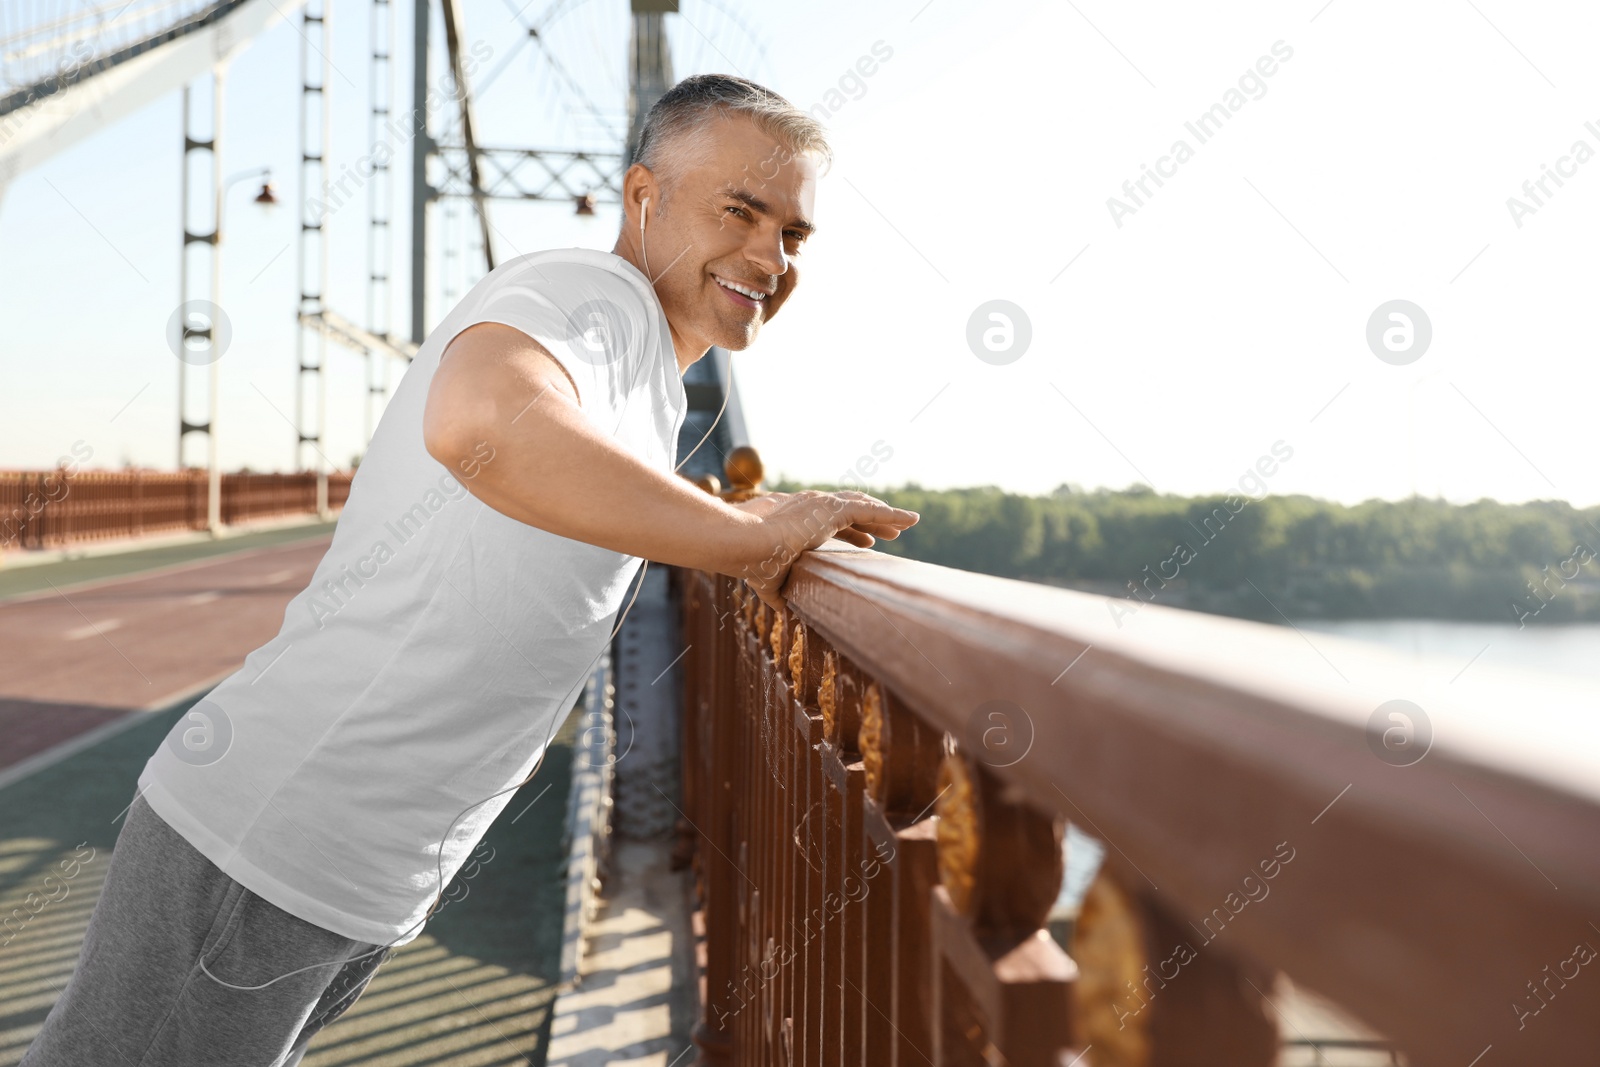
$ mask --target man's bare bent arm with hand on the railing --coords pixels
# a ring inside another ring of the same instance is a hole
[[[864,493],[795,493],[734,507],[642,462],[579,410],[562,365],[520,330],[477,323],[445,349],[422,440],[451,472],[482,456],[467,490],[494,510],[562,537],[747,579],[771,605],[800,552],[838,536],[898,537],[915,512]]]

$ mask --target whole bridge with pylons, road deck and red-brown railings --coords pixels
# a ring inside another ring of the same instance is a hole
[[[326,5],[40,6],[0,27],[0,203],[182,91],[178,296],[214,298],[227,62],[298,19],[299,102],[318,114]],[[0,472],[0,1067],[70,974],[144,758],[275,632],[326,550],[350,483],[322,454],[328,360],[365,360],[370,434],[389,370],[451,296],[427,282],[435,211],[470,205],[475,235],[443,251],[475,240],[490,269],[494,202],[614,197],[672,82],[675,6],[629,6],[627,134],[550,149],[485,144],[454,0],[438,10],[453,114],[429,126],[434,10],[416,5],[405,328],[387,165],[366,315],[323,299],[330,134],[304,125],[294,470],[221,469],[221,326],[197,315],[178,336],[194,358],[176,469]],[[370,13],[370,72],[389,85],[394,11]],[[395,122],[389,91],[366,104]],[[680,454],[706,438],[685,475],[760,491],[728,354],[685,387]],[[205,464],[186,464],[198,438]],[[1595,694],[1478,667],[1418,721],[1331,685],[1405,693],[1414,672],[1155,605],[1123,629],[1104,597],[837,542],[797,561],[778,611],[738,579],[653,571],[451,907],[306,1062],[1589,1064],[1600,766],[1570,739]],[[46,883],[69,857],[82,873]]]

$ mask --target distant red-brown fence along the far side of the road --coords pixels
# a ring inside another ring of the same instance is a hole
[[[74,544],[205,530],[205,470],[0,470],[0,549]],[[349,474],[328,475],[328,507],[350,494]],[[224,474],[222,523],[310,515],[317,474]]]

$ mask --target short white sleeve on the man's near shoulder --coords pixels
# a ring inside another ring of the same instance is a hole
[[[496,278],[459,330],[498,322],[555,357],[590,414],[616,414],[646,373],[650,320],[626,278],[579,262],[523,264]]]

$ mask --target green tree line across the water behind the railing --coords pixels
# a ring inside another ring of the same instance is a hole
[[[805,488],[779,483],[779,491]],[[994,486],[877,496],[922,514],[878,547],[928,563],[1250,619],[1600,621],[1600,507],[1563,501],[1170,496]],[[1136,608],[1136,605],[1130,605]]]

